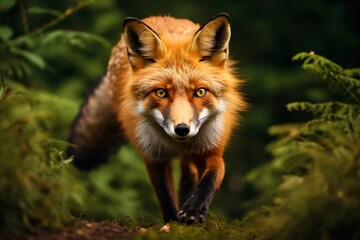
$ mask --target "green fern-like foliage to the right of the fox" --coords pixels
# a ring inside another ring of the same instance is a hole
[[[271,175],[276,184],[257,185],[264,191],[264,210],[250,219],[262,224],[266,239],[357,239],[360,236],[360,69],[344,70],[314,53],[304,59],[303,68],[320,76],[331,91],[347,95],[347,102],[287,105],[289,111],[311,113],[303,124],[273,126],[278,137],[268,145],[273,161],[249,174],[260,181]],[[254,183],[256,185],[256,183]],[[275,187],[275,188],[274,188]]]

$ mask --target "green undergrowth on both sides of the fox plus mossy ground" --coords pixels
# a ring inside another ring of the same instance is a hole
[[[53,71],[55,60],[44,49],[109,48],[96,35],[54,29],[91,2],[64,12],[32,8],[29,13],[54,19],[32,31],[25,27],[22,35],[0,26],[0,239],[360,238],[360,68],[345,69],[314,52],[293,60],[326,83],[321,91],[331,100],[286,105],[287,114],[307,120],[269,127],[274,140],[262,151],[271,159],[246,174],[244,185],[256,194],[238,203],[244,210],[238,218],[210,209],[203,225],[163,228],[143,163],[130,146],[95,171],[75,169],[64,152],[79,102],[28,79]],[[15,4],[7,1],[3,10]],[[76,84],[71,87],[84,87]]]

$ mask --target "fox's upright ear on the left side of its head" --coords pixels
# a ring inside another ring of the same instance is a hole
[[[156,62],[163,52],[157,33],[137,18],[125,18],[124,40],[128,59],[134,69]]]

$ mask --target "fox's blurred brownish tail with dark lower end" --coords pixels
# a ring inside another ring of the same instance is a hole
[[[109,80],[103,77],[85,103],[72,125],[68,156],[82,170],[90,170],[107,161],[125,138],[121,133],[111,103]]]

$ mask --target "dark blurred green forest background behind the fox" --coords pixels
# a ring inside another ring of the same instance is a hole
[[[46,42],[40,35],[41,43],[25,42],[24,46],[41,56],[45,66],[35,66],[22,73],[11,72],[9,63],[14,59],[4,44],[4,27],[12,31],[6,39],[16,39],[50,22],[59,12],[78,2],[0,0],[0,63],[5,76],[34,91],[45,91],[72,102],[66,109],[56,109],[52,134],[63,141],[68,139],[71,121],[86,94],[105,74],[111,46],[120,38],[125,17],[170,15],[201,24],[219,12],[230,15],[231,56],[238,62],[239,75],[247,81],[243,91],[251,109],[244,114],[225,155],[226,176],[211,208],[221,217],[241,217],[246,208],[242,202],[258,194],[246,186],[244,176],[270,159],[264,150],[271,140],[267,128],[272,124],[306,120],[303,114],[287,113],[284,105],[299,100],[332,99],[332,95],[323,90],[324,83],[303,72],[298,63],[291,61],[292,56],[314,51],[344,67],[360,65],[360,8],[356,0],[98,0],[48,31],[81,31],[103,39],[69,41],[52,36],[51,41]],[[39,12],[39,9],[47,11]],[[48,9],[55,12],[51,14]],[[159,208],[138,155],[131,148],[124,148],[110,164],[81,177],[87,179],[88,191],[94,195],[89,199],[93,205],[88,214],[94,218],[116,218],[119,214],[159,217]],[[116,210],[117,207],[120,210]]]

